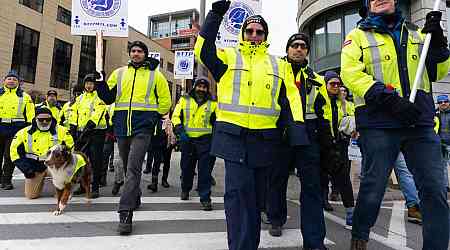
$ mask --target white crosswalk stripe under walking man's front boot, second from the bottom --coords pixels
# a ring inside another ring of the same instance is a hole
[[[116,222],[119,215],[116,211],[105,212],[66,212],[55,216],[51,212],[37,213],[3,213],[0,214],[0,224],[54,224],[54,223],[99,223]],[[176,221],[176,220],[225,220],[224,210],[201,211],[135,211],[134,221]]]

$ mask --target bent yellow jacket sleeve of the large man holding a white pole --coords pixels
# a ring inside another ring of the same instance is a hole
[[[341,78],[353,94],[364,97],[375,80],[364,72],[366,66],[360,61],[362,43],[357,33],[358,30],[354,29],[345,39],[341,53]]]

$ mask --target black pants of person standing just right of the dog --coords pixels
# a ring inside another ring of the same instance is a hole
[[[103,146],[105,144],[105,131],[95,129],[89,134],[86,154],[91,162],[93,181],[92,191],[98,191],[103,175]]]

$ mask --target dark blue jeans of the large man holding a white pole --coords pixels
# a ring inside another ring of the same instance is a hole
[[[352,237],[369,239],[389,174],[401,151],[419,190],[423,249],[447,250],[449,207],[439,137],[431,127],[361,129],[360,134],[364,174],[353,215]]]

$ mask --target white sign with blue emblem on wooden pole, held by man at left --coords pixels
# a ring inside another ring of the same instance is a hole
[[[72,35],[128,37],[128,0],[72,0]]]

